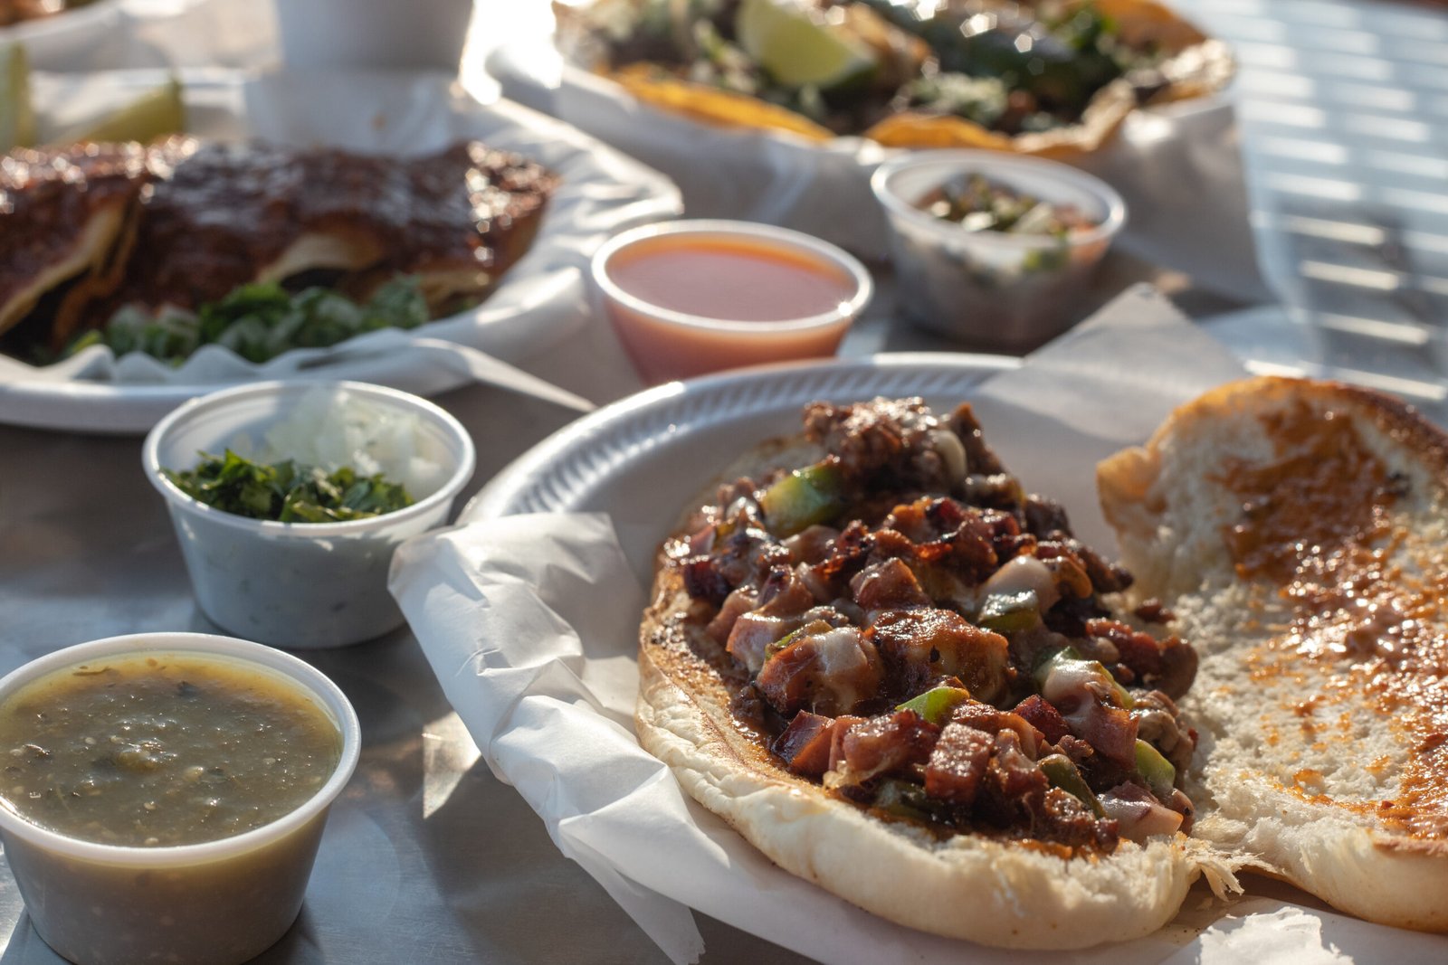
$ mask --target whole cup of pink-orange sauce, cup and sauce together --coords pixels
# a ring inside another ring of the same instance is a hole
[[[875,291],[864,266],[834,245],[752,221],[623,231],[594,256],[592,275],[650,385],[833,356]]]

